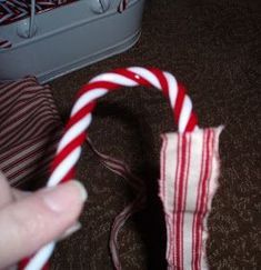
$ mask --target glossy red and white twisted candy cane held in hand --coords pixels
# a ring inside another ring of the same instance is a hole
[[[192,111],[191,99],[185,94],[183,86],[165,71],[152,68],[132,67],[117,69],[93,78],[83,86],[77,96],[66,132],[58,146],[57,154],[51,166],[51,177],[48,187],[73,178],[76,164],[81,154],[81,146],[87,138],[87,129],[91,123],[91,112],[96,100],[121,87],[154,87],[162,90],[169,99],[178,123],[179,132],[190,132],[197,127],[197,117]],[[26,270],[42,269],[54,249],[54,242],[47,244],[32,258],[24,259],[20,264]]]

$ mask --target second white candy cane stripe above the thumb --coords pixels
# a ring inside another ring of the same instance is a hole
[[[81,134],[91,123],[91,113],[83,117],[79,122],[74,123],[62,137],[57,153],[59,153],[66,146],[68,146],[73,139]]]

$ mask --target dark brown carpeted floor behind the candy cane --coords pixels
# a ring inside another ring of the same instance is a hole
[[[51,83],[66,121],[77,90],[112,68],[155,66],[189,89],[202,127],[224,124],[222,173],[209,218],[210,269],[261,269],[260,1],[148,1],[140,41],[129,51]],[[153,89],[123,89],[101,99],[90,138],[124,160],[149,190],[148,209],[120,233],[123,270],[165,269],[165,231],[158,199],[160,134],[175,130],[170,108]],[[89,192],[82,230],[61,242],[52,269],[112,269],[110,226],[131,198],[122,179],[84,149],[78,178]]]

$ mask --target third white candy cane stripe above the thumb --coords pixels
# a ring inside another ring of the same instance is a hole
[[[84,94],[81,96],[80,99],[77,100],[76,104],[72,108],[71,117],[73,117],[79,110],[81,110],[84,106],[89,104],[96,99],[104,96],[108,92],[104,88],[97,88],[93,89]]]

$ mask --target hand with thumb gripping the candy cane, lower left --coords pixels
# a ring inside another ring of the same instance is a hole
[[[76,180],[29,193],[11,188],[0,173],[0,269],[79,228],[86,200],[87,191]]]

